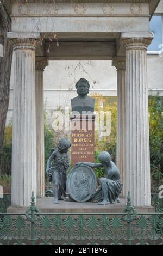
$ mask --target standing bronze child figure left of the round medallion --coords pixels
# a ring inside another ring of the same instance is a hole
[[[66,138],[61,138],[58,143],[58,149],[54,150],[47,161],[46,173],[51,177],[54,184],[54,203],[58,204],[58,200],[66,201],[66,170],[69,167],[68,149],[71,147],[70,142]],[[53,164],[51,167],[51,162]]]

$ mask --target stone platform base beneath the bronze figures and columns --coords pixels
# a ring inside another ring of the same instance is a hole
[[[37,198],[37,208],[42,213],[96,213],[96,214],[104,214],[104,213],[118,213],[122,212],[124,207],[126,206],[126,202],[124,198],[120,198],[120,203],[116,204],[107,204],[107,205],[98,205],[92,202],[64,202],[59,201],[59,204],[54,204],[54,198],[52,197],[44,197]],[[135,207],[137,212],[139,213],[150,213],[154,212],[154,208],[152,206],[137,206]],[[27,208],[23,207],[15,207],[10,206],[8,208],[8,213],[24,213]]]

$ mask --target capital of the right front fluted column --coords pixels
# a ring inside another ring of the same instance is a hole
[[[121,39],[120,44],[128,50],[145,50],[151,44],[153,38],[124,38]]]

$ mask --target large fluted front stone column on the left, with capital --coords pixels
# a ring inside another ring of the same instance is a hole
[[[12,39],[15,51],[11,204],[36,195],[35,39]]]

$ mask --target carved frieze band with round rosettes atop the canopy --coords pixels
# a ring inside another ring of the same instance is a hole
[[[43,17],[43,16],[141,16],[149,15],[147,3],[97,2],[97,3],[26,3],[13,4],[12,16]]]

